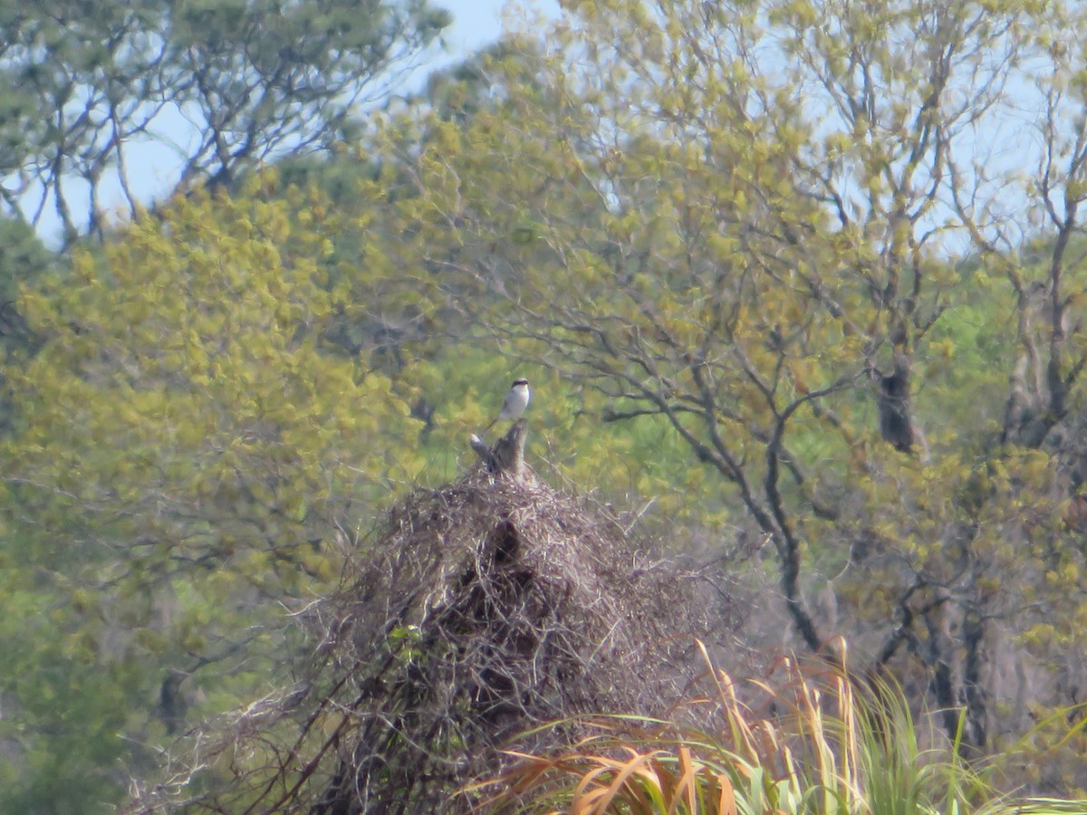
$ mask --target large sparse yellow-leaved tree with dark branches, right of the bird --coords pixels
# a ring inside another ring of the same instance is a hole
[[[603,419],[663,422],[721,477],[799,640],[848,635],[862,664],[965,707],[963,744],[985,750],[998,705],[1012,732],[1028,695],[1078,701],[1061,691],[1075,668],[1024,638],[1057,607],[1074,636],[1084,552],[1055,449],[1001,447],[994,377],[954,369],[987,349],[1013,381],[1014,286],[980,314],[974,287],[1022,265],[1022,244],[988,249],[991,224],[963,213],[1012,189],[979,139],[1032,75],[1039,10],[951,7],[571,4],[551,49],[490,63],[491,108],[432,122],[399,159],[420,188],[403,231],[498,296],[495,331],[610,400]],[[1075,112],[1028,99],[1039,122]],[[1059,348],[1078,400],[1082,346]]]

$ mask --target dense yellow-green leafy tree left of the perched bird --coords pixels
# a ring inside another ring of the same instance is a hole
[[[2,371],[4,692],[32,755],[85,740],[75,776],[96,740],[162,738],[168,670],[191,673],[175,703],[214,711],[285,669],[291,602],[422,467],[389,378],[325,340],[332,238],[258,185],[179,199],[22,296],[39,346]]]

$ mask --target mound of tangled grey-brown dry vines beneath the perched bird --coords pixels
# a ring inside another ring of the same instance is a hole
[[[347,573],[307,612],[304,679],[191,734],[132,812],[480,806],[462,790],[503,750],[572,743],[586,714],[665,714],[700,669],[692,635],[727,612],[521,467],[414,492]]]

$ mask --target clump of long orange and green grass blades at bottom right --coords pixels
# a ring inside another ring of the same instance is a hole
[[[704,649],[703,656],[710,664]],[[888,681],[858,682],[840,666],[791,659],[775,674],[773,685],[741,688],[711,666],[712,692],[677,710],[673,720],[594,717],[591,734],[571,749],[511,753],[510,769],[472,791],[484,795],[484,812],[1087,813],[1084,800],[1001,794],[989,780],[995,765],[972,766],[958,744],[919,727]]]

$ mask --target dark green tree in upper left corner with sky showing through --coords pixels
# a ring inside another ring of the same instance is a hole
[[[140,143],[170,146],[183,185],[327,149],[449,20],[427,0],[0,4],[7,214],[100,231],[113,189],[137,209]]]

